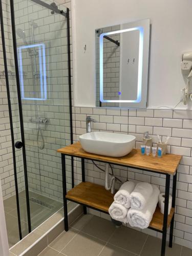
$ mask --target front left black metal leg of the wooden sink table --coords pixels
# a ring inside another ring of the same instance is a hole
[[[66,184],[66,156],[61,154],[62,163],[62,189],[63,189],[63,208],[64,208],[64,227],[65,230],[69,230],[68,224],[68,207],[67,207],[67,184]]]

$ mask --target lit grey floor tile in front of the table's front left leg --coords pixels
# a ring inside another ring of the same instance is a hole
[[[97,256],[104,245],[104,241],[80,232],[61,252],[68,256]]]

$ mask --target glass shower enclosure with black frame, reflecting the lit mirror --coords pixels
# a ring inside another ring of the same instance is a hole
[[[17,209],[8,214],[18,218],[17,238],[8,231],[13,245],[63,206],[56,150],[73,143],[73,130],[69,9],[60,1],[10,0],[10,10],[13,58],[8,69],[14,75],[8,72],[7,86]],[[73,159],[67,170],[70,189]]]

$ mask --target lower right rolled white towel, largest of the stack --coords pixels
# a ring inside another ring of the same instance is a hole
[[[127,221],[132,227],[139,227],[143,229],[150,225],[160,194],[159,188],[155,185],[152,186],[153,194],[144,209],[138,210],[130,208],[127,213]]]

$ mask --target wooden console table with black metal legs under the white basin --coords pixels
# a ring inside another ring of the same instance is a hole
[[[68,226],[68,210],[67,200],[83,205],[83,212],[87,214],[86,207],[102,211],[109,214],[108,209],[112,204],[113,195],[110,191],[105,190],[103,186],[85,182],[84,174],[84,159],[97,160],[104,163],[112,163],[115,165],[132,167],[148,172],[164,174],[166,176],[165,182],[165,207],[164,215],[161,214],[160,208],[157,206],[153,219],[148,228],[162,233],[161,256],[165,255],[166,233],[170,225],[169,247],[173,243],[173,229],[174,229],[174,212],[175,212],[175,198],[176,198],[176,183],[177,183],[177,167],[181,160],[181,156],[167,154],[161,158],[141,155],[139,150],[132,150],[132,152],[124,157],[106,157],[94,155],[85,152],[79,142],[60,148],[57,152],[61,153],[62,160],[62,178],[63,178],[63,207],[64,207],[64,224],[65,230],[69,230]],[[66,158],[65,156],[81,158],[82,182],[72,188],[67,193],[66,188]],[[173,175],[173,190],[172,190],[172,209],[168,215],[168,199],[170,176]]]

